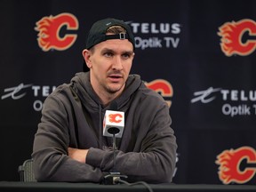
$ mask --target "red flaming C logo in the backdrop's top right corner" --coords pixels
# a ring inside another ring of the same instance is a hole
[[[221,36],[220,47],[228,57],[233,54],[241,56],[249,55],[256,48],[256,40],[248,39],[242,41],[245,32],[249,32],[249,36],[256,36],[256,23],[253,20],[239,20],[237,22],[227,22],[222,25],[218,35]]]

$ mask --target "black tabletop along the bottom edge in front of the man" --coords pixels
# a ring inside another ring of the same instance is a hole
[[[256,192],[256,185],[155,184],[148,186],[153,192]],[[100,185],[94,183],[0,181],[0,191],[148,192],[150,190],[142,184],[127,186],[125,184]]]

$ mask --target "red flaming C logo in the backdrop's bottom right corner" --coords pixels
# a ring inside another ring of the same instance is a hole
[[[240,168],[242,160],[246,160],[243,170]],[[224,150],[217,156],[215,163],[220,164],[219,178],[224,184],[245,183],[251,180],[256,172],[256,151],[250,147]]]

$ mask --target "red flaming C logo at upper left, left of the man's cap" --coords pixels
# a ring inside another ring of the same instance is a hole
[[[77,30],[78,21],[70,13],[61,13],[55,17],[52,15],[44,17],[36,22],[35,30],[38,31],[37,42],[44,52],[50,49],[66,50],[76,41],[75,34],[66,34],[60,36],[60,29]]]

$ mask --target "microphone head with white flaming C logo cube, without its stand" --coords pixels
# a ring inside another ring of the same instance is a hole
[[[124,132],[124,112],[117,111],[116,100],[110,103],[103,119],[103,136],[122,138]]]

